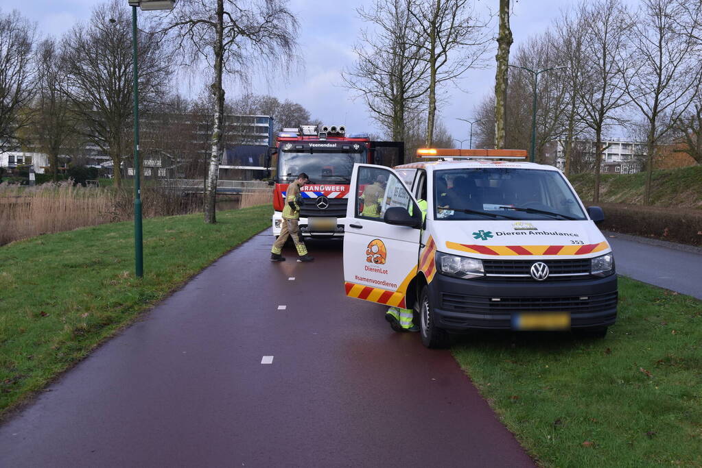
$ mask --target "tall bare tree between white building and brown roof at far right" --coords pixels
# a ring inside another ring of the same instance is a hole
[[[656,145],[680,121],[700,86],[696,25],[680,26],[684,11],[666,0],[643,0],[630,34],[630,67],[625,90],[647,124],[645,203],[651,202]]]

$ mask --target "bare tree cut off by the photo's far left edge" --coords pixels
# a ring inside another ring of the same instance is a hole
[[[18,11],[0,11],[0,153],[16,146],[18,130],[31,118],[34,34],[35,26]]]

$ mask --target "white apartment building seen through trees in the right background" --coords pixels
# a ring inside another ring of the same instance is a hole
[[[547,159],[555,160],[555,165],[560,170],[565,166],[565,139],[558,139],[550,142],[545,149]],[[594,140],[574,140],[576,148],[583,152],[590,161],[595,160]],[[602,141],[604,152],[602,153],[602,164],[600,170],[605,173],[634,174],[641,171],[642,162],[646,156],[646,144],[641,142],[630,142],[621,139],[609,139]]]

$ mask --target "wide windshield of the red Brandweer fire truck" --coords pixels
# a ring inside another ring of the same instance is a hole
[[[278,179],[281,182],[293,181],[300,172],[305,172],[315,184],[324,182],[350,182],[354,163],[364,163],[366,152],[361,153],[322,153],[306,151],[293,153],[279,151]]]

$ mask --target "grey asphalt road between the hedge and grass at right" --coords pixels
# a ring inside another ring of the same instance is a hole
[[[702,299],[702,254],[697,249],[686,252],[668,242],[615,233],[607,233],[607,241],[620,275]]]

